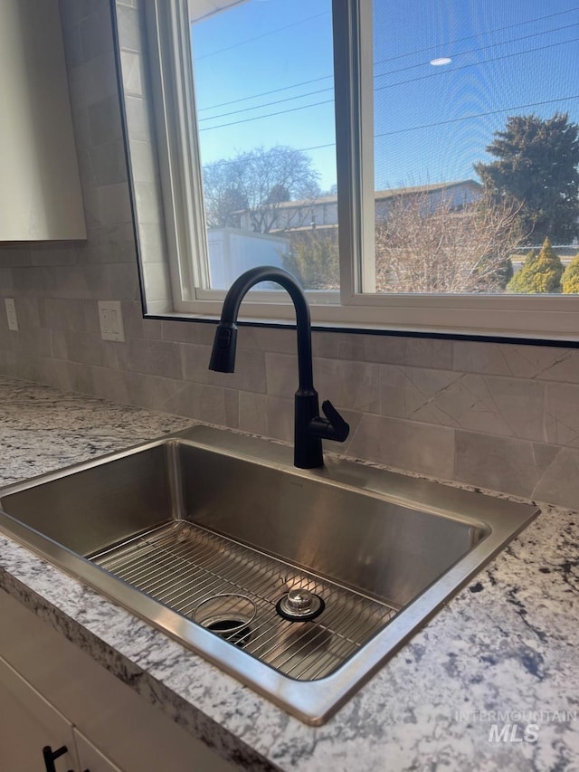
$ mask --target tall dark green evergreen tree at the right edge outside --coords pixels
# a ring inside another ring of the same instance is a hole
[[[520,205],[534,241],[569,243],[579,216],[579,124],[566,113],[545,120],[516,115],[494,136],[487,152],[497,160],[474,165],[487,192]]]

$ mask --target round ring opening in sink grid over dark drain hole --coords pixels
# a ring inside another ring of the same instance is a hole
[[[206,630],[235,646],[245,646],[252,635],[257,608],[246,596],[223,594],[206,598],[195,609],[193,619]]]

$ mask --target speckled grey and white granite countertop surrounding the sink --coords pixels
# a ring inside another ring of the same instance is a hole
[[[191,423],[0,376],[0,485]],[[579,769],[576,512],[544,507],[319,728],[2,535],[0,587],[242,768]]]

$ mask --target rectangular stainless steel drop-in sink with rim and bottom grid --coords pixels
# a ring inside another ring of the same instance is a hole
[[[320,724],[538,510],[207,426],[0,490],[0,529]]]

